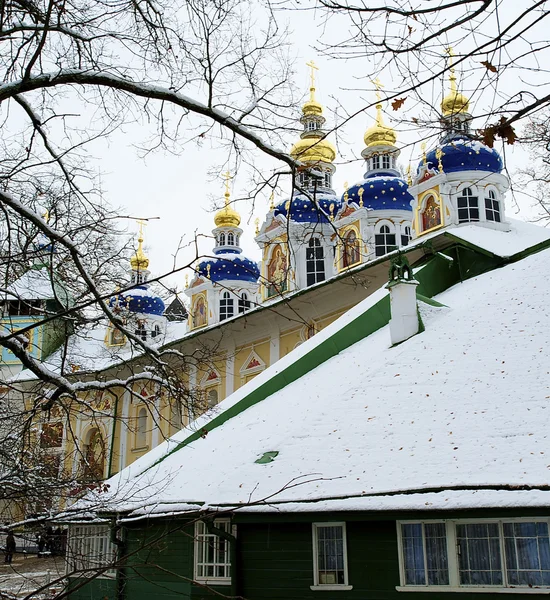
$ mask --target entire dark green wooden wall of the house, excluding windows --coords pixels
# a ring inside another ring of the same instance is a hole
[[[529,514],[528,514],[529,513]],[[426,519],[548,516],[548,510],[426,513]],[[418,513],[403,518],[418,518]],[[258,517],[261,517],[260,521]],[[272,522],[265,522],[271,517]],[[298,519],[299,517],[299,519]],[[378,520],[377,520],[378,517]],[[247,600],[452,600],[456,592],[398,592],[399,561],[395,516],[375,514],[244,515],[237,513],[237,568],[234,592]],[[346,522],[349,591],[311,590],[313,584],[313,522]],[[192,526],[177,520],[126,530],[130,555],[123,571],[123,596],[116,583],[95,579],[70,595],[71,600],[212,600],[231,596],[230,586],[211,590],[192,584]],[[79,580],[72,580],[72,583]],[[462,599],[480,600],[478,593],[460,592]],[[499,593],[484,593],[487,600]],[[489,597],[489,598],[487,598]],[[532,594],[514,593],[517,600]]]

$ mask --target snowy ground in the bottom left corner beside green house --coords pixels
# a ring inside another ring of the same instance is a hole
[[[0,558],[0,598],[24,598],[46,585],[48,587],[40,596],[54,596],[61,591],[62,585],[55,580],[65,572],[63,557],[25,558],[22,554],[15,554],[11,565],[4,564],[3,556]]]

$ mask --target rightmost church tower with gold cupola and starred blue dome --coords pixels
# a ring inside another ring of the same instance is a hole
[[[507,231],[504,194],[508,178],[494,148],[471,131],[470,101],[459,92],[452,50],[450,90],[441,102],[442,133],[438,145],[418,165],[411,193],[416,237],[447,226],[468,224]]]

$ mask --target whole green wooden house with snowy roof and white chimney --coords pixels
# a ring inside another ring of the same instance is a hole
[[[549,594],[549,237],[413,242],[412,269],[73,507],[71,599]]]

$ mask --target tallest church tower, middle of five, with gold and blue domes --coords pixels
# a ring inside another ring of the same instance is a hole
[[[302,107],[300,139],[290,155],[301,166],[295,171],[292,196],[272,205],[256,237],[262,248],[262,299],[303,289],[334,274],[332,224],[340,200],[332,189],[336,149],[327,139],[323,107],[316,100],[311,69],[309,100]]]

